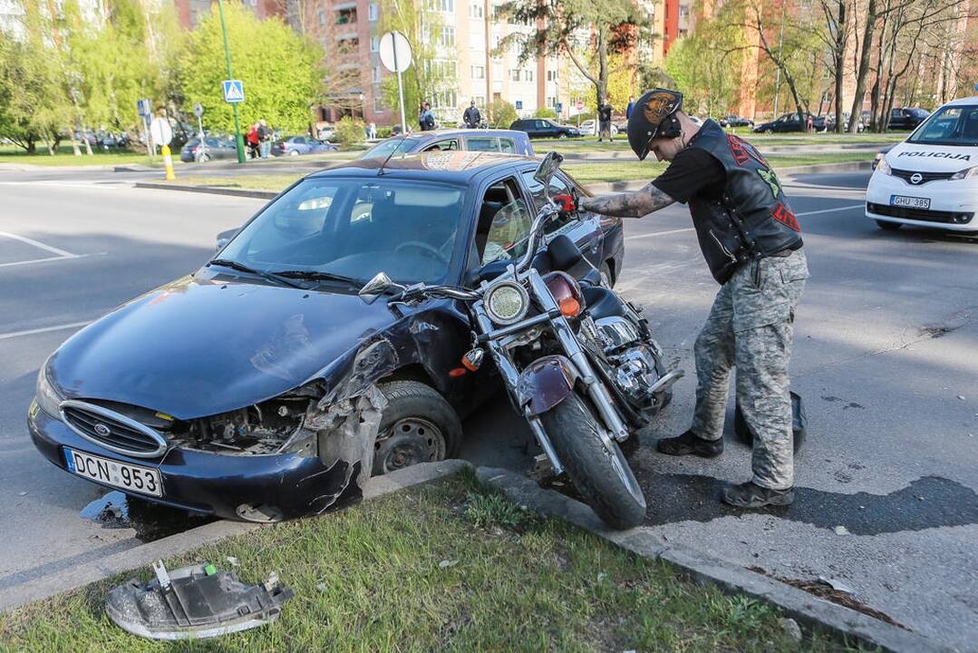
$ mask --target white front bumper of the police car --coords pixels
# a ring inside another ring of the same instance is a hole
[[[927,198],[928,210],[893,206],[894,195]],[[869,179],[866,215],[874,220],[949,231],[978,231],[978,179],[938,180],[914,185],[878,170]]]

